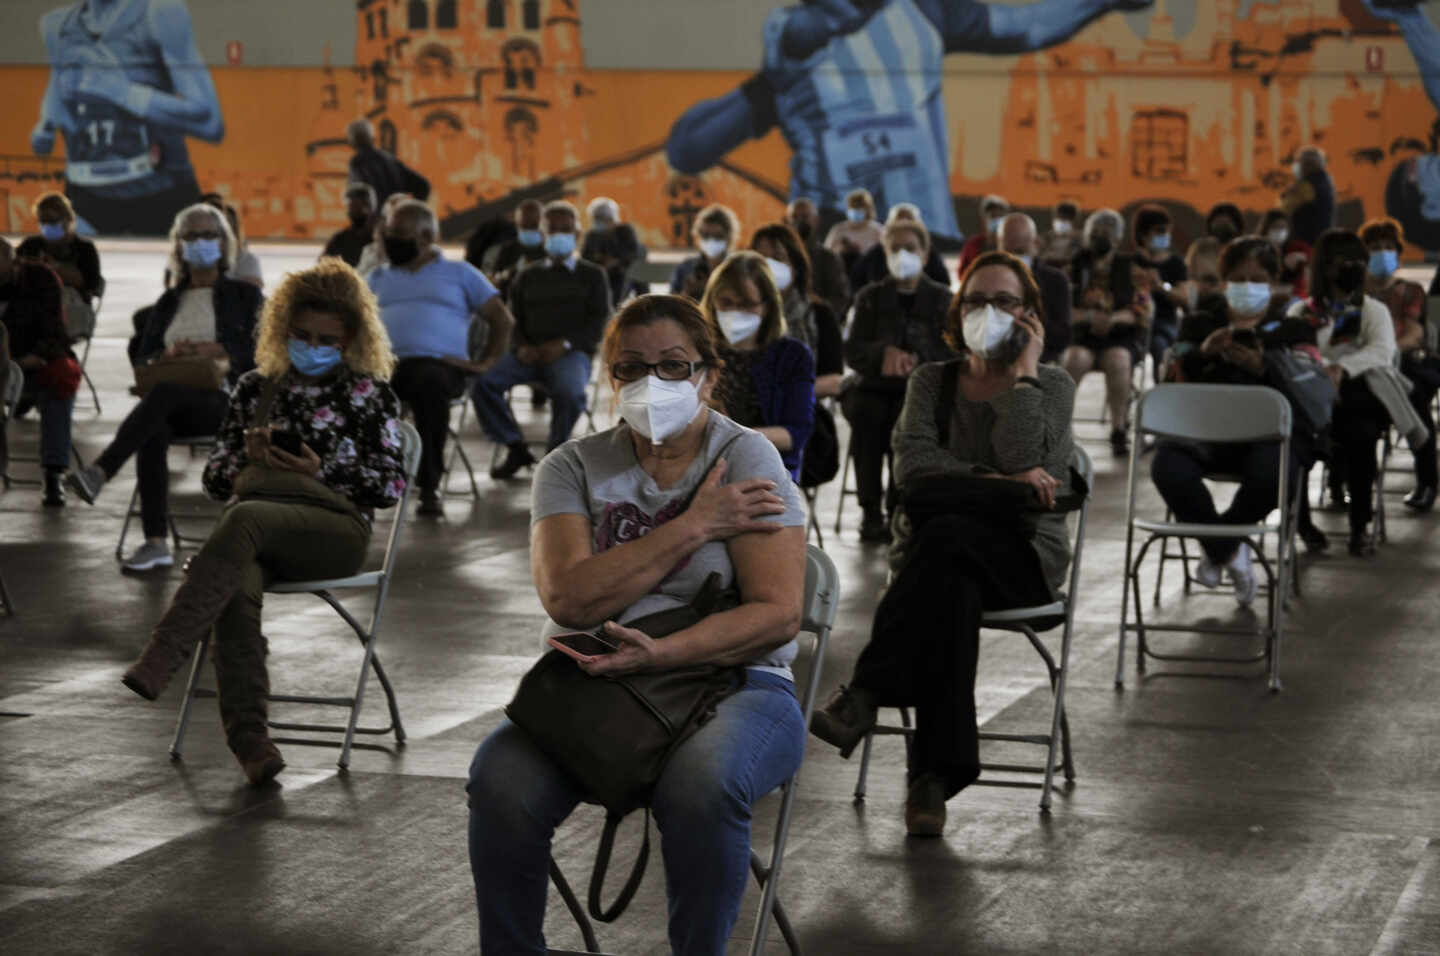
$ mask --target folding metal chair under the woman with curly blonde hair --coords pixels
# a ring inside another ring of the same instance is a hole
[[[336,724],[305,724],[305,723],[285,723],[285,721],[269,721],[269,726],[275,730],[300,730],[308,733],[331,733],[344,734],[344,743],[340,746],[340,769],[344,770],[350,766],[350,749],[354,744],[356,734],[387,734],[395,733],[395,743],[405,743],[405,727],[400,724],[400,710],[395,703],[395,690],[390,687],[390,678],[386,677],[384,668],[380,665],[380,658],[376,657],[374,644],[380,635],[380,616],[384,612],[384,599],[390,592],[390,577],[395,574],[395,559],[396,559],[396,544],[400,540],[400,526],[405,523],[405,505],[410,498],[410,488],[415,484],[415,474],[420,466],[420,433],[415,430],[415,426],[409,422],[400,422],[400,451],[405,456],[405,492],[400,495],[400,501],[395,505],[390,520],[390,536],[384,544],[384,560],[380,563],[379,570],[361,572],[359,574],[351,574],[350,577],[336,577],[330,580],[302,580],[302,582],[275,582],[265,589],[268,595],[315,595],[327,605],[336,609],[336,613],[344,619],[347,625],[354,631],[356,638],[364,646],[364,657],[360,662],[360,677],[356,680],[356,691],[351,697],[301,697],[295,694],[269,694],[268,700],[284,703],[284,704],[321,704],[328,707],[346,707],[350,711],[350,717],[344,726]],[[336,599],[333,592],[337,590],[373,590],[374,592],[374,606],[370,612],[370,626],[364,628],[359,621]],[[180,704],[180,717],[176,721],[176,734],[170,743],[170,756],[176,760],[180,759],[180,746],[184,741],[184,731],[190,723],[190,704],[197,697],[215,697],[215,691],[197,687],[200,678],[200,667],[204,662],[204,652],[210,645],[210,635],[207,633],[202,641],[200,646],[196,648],[194,662],[190,665],[190,680],[186,682],[184,701]],[[390,723],[384,727],[360,727],[360,705],[364,698],[366,681],[370,677],[370,668],[374,668],[374,675],[380,681],[380,688],[384,690],[386,704],[390,710]],[[305,744],[324,744],[323,740],[298,740],[297,743]]]

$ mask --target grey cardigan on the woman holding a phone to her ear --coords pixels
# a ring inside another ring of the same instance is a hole
[[[1002,392],[988,402],[971,402],[963,387],[955,390],[950,433],[940,441],[935,430],[935,403],[939,400],[943,363],[920,366],[910,376],[904,407],[890,436],[894,449],[896,484],[901,488],[919,475],[1014,475],[1043,465],[1061,481],[1060,494],[1070,488],[1070,456],[1074,438],[1070,416],[1076,386],[1056,366],[1040,366],[1038,389],[1024,386]],[[960,380],[965,379],[960,371]],[[1035,511],[1027,517],[1045,580],[1057,590],[1070,566],[1070,534],[1064,514]],[[910,540],[910,521],[896,515],[890,563],[903,563]]]

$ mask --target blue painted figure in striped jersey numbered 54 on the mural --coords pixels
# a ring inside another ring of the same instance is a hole
[[[765,23],[765,65],[739,89],[691,107],[670,132],[670,163],[700,173],[779,125],[793,151],[791,196],[840,209],[864,187],[880,213],[920,207],[960,238],[940,95],[946,53],[1022,53],[1070,39],[1110,10],[1153,0],[808,0]]]

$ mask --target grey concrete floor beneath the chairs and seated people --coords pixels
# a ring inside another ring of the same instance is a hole
[[[314,253],[258,252],[271,276]],[[104,412],[82,400],[75,413],[86,459],[132,403],[130,314],[158,292],[163,255],[138,242],[102,253],[111,294],[91,373]],[[1081,410],[1099,399],[1092,376]],[[526,422],[543,433],[543,420]],[[1411,517],[1391,494],[1378,556],[1348,559],[1338,540],[1339,553],[1303,559],[1284,693],[1254,678],[1138,680],[1133,661],[1117,693],[1125,469],[1099,426],[1077,432],[1099,479],[1068,691],[1076,786],[1050,816],[1034,790],[972,788],[950,802],[942,839],[912,841],[900,743],[877,743],[870,798],[855,806],[858,762],[815,741],[782,881],[806,952],[1440,952],[1440,518]],[[35,439],[33,418],[14,426],[16,451]],[[472,423],[464,441],[484,471],[491,449]],[[176,511],[203,533],[215,505],[199,491],[200,462],[177,451],[171,468]],[[348,773],[337,773],[333,747],[285,746],[282,786],[258,792],[225,750],[213,705],[197,705],[186,759],[171,763],[179,690],[145,704],[120,685],[176,586],[174,573],[117,570],[131,487],[127,468],[96,507],[72,501],[62,513],[42,511],[33,488],[0,495],[0,573],[19,605],[0,618],[0,950],[474,952],[462,780],[539,649],[526,482],[481,474],[477,500],[452,497],[444,520],[406,526],[380,654],[409,746],[361,750]],[[1408,487],[1408,475],[1391,475],[1394,491]],[[844,592],[828,691],[865,642],[884,563],[858,546],[852,501],[840,536],[834,487],[819,508]],[[1224,595],[1184,598],[1176,574],[1161,603],[1164,616],[1244,619]],[[266,632],[276,691],[347,693],[359,658],[328,608],[272,599]],[[1220,646],[1179,638],[1187,645]],[[1044,723],[1048,688],[1030,649],[986,636],[981,657],[986,727]],[[757,808],[759,845],[776,806],[772,796]],[[556,855],[582,885],[599,824],[582,811],[557,836]],[[621,860],[632,845],[628,832]],[[579,949],[554,900],[546,926],[552,946]],[[658,871],[600,940],[613,953],[665,952]]]

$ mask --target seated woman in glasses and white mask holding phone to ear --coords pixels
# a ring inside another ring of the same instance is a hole
[[[923,523],[913,500],[901,507],[890,550],[896,576],[870,644],[850,684],[811,723],[850,756],[874,727],[877,705],[916,708],[904,813],[917,836],[939,835],[945,801],[979,776],[981,612],[1054,600],[1070,564],[1056,504],[1073,491],[1076,386],[1063,369],[1040,364],[1043,307],[1025,265],[1008,252],[976,258],[946,315],[946,337],[965,351],[910,376],[894,466],[903,494],[933,484],[955,507]],[[1002,487],[1009,482],[1021,490]]]

